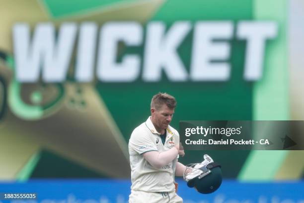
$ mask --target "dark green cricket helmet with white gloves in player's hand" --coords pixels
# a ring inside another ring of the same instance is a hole
[[[210,194],[218,190],[222,184],[222,170],[211,157],[204,155],[205,160],[198,164],[188,164],[184,171],[187,186],[195,188],[199,193]],[[206,158],[208,161],[206,161]]]

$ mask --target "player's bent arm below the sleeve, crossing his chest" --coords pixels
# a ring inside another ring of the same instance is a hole
[[[150,151],[144,154],[144,158],[152,165],[154,168],[161,168],[166,164],[170,163],[178,155],[178,150],[172,147],[165,152]]]

